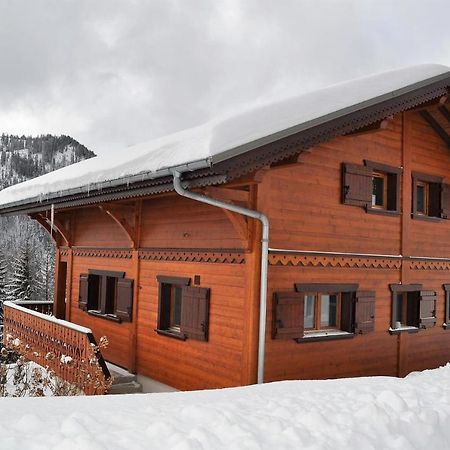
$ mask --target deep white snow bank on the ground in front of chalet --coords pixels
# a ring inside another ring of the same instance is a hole
[[[450,365],[405,379],[0,402],[1,449],[450,448]]]

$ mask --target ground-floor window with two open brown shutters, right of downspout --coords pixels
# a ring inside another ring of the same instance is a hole
[[[274,339],[351,337],[373,331],[375,293],[356,284],[296,284],[275,292]]]

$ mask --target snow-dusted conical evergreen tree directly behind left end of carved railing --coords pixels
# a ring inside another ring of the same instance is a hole
[[[25,241],[12,261],[12,275],[7,285],[8,300],[31,300],[31,286],[29,243]]]

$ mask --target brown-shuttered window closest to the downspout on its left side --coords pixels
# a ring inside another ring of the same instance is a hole
[[[157,276],[157,333],[177,339],[208,340],[209,289],[189,286],[190,278]]]

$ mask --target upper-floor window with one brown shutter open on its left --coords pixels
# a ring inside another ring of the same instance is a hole
[[[400,168],[374,161],[344,163],[342,202],[362,206],[367,212],[399,214],[400,174]]]

